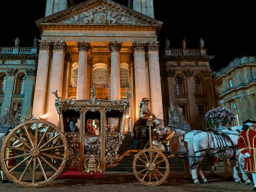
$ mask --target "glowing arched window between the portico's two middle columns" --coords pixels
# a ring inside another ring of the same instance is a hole
[[[92,76],[94,87],[108,87],[108,68],[105,64],[94,65]]]

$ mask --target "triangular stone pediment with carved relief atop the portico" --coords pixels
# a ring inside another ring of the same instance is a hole
[[[68,28],[70,25],[80,28],[118,28],[117,26],[147,26],[160,30],[162,22],[136,12],[111,0],[88,0],[66,10],[57,12],[36,21],[38,28]],[[125,27],[126,28],[126,27]],[[126,28],[127,30],[127,28]],[[132,27],[134,30],[134,27]]]

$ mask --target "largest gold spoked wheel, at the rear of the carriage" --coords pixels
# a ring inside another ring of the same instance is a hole
[[[4,139],[1,165],[10,180],[23,187],[40,187],[59,176],[68,158],[62,131],[45,120],[16,126]]]

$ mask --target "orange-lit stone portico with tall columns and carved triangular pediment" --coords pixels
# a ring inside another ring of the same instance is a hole
[[[94,84],[96,98],[120,99],[132,92],[131,124],[138,118],[142,97],[152,99],[152,111],[162,118],[157,42],[162,22],[115,2],[95,0],[36,23],[42,31],[38,68],[43,68],[37,71],[42,78],[37,78],[35,87],[36,117],[48,113],[48,120],[58,124],[52,91],[58,90],[62,97],[88,99]],[[56,43],[63,45],[62,50],[55,50]],[[65,61],[65,55],[70,60]],[[127,85],[120,82],[121,64],[127,66]],[[95,78],[97,70],[106,71],[107,79]]]

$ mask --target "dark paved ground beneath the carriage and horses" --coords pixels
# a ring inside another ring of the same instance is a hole
[[[253,188],[246,184],[236,184],[234,180],[225,180],[223,173],[218,173],[217,178],[210,177],[208,172],[204,174],[209,184],[195,185],[185,180],[182,172],[170,172],[161,185],[144,186],[133,173],[104,172],[103,178],[55,179],[40,188],[22,188],[16,184],[0,182],[0,192],[250,192]]]

